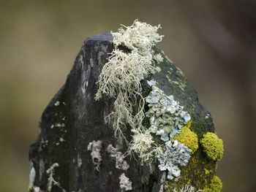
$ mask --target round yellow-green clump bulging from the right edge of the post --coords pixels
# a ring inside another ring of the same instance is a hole
[[[219,139],[217,134],[211,132],[204,134],[200,143],[208,158],[214,161],[218,161],[222,158],[224,152],[223,142],[222,139]]]

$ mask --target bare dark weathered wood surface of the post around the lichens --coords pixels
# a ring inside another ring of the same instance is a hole
[[[105,117],[113,110],[114,100],[104,98],[95,101],[94,96],[102,66],[108,61],[108,53],[113,50],[112,40],[109,33],[86,39],[67,81],[42,114],[39,137],[31,145],[29,153],[36,171],[34,186],[41,191],[48,191],[49,175],[46,171],[55,163],[59,167],[54,169],[54,180],[65,191],[118,192],[121,191],[118,177],[122,173],[132,180],[132,191],[159,191],[162,173],[157,168],[157,162],[154,173],[150,174],[148,166],[140,166],[135,158],[128,156],[126,161],[129,169],[124,171],[116,169],[115,161],[106,151],[108,145],[117,145],[111,125],[105,122]],[[199,139],[206,131],[214,131],[211,115],[198,102],[197,92],[187,78],[161,50],[154,47],[154,51],[164,58],[159,65],[162,70],[152,77],[159,82],[157,86],[165,94],[172,94],[189,111],[193,120],[192,130]],[[129,128],[125,134],[129,139]],[[94,140],[102,141],[102,163],[99,171],[92,162],[91,151],[87,150],[89,142]],[[124,146],[122,152],[125,153],[126,150]],[[198,164],[202,158],[202,161],[207,161],[208,169],[214,170],[215,162],[206,160],[201,148],[196,155]],[[197,163],[191,167],[195,169]],[[198,175],[203,175],[203,169],[198,166],[198,172],[189,172],[189,177],[198,179]],[[193,179],[191,183],[197,188],[202,188],[205,184]],[[62,191],[61,188],[53,185],[51,191]]]

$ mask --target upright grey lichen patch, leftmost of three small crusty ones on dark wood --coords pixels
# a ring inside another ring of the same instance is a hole
[[[100,154],[100,151],[102,150],[102,141],[97,140],[97,142],[89,142],[87,150],[91,151],[91,160],[93,164],[96,165],[97,171],[99,171],[99,165],[102,162],[102,155]]]

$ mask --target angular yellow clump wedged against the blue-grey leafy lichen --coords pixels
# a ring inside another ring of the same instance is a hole
[[[195,134],[193,131],[189,129],[191,123],[192,121],[189,120],[189,123],[187,123],[187,125],[181,129],[181,132],[179,134],[176,134],[176,136],[173,139],[176,139],[179,142],[182,142],[187,147],[189,147],[189,149],[192,150],[193,154],[198,148],[198,139],[197,134]]]

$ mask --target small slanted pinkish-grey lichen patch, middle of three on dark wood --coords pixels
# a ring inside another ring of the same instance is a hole
[[[113,147],[111,144],[107,147],[107,152],[110,153],[110,157],[116,160],[116,169],[129,169],[129,164],[125,161],[124,154],[118,150],[120,150],[120,147]]]

